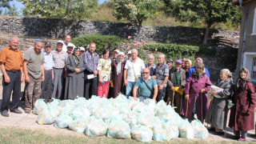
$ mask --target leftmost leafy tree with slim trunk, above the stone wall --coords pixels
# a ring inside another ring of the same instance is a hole
[[[25,8],[22,13],[27,15],[41,14],[46,18],[59,18],[62,23],[62,36],[65,36],[68,19],[90,17],[98,0],[18,0]]]

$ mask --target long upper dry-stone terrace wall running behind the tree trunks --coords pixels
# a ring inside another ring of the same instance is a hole
[[[86,34],[110,34],[122,38],[136,36],[136,27],[131,23],[68,21],[66,34],[73,38]],[[147,42],[203,42],[205,29],[186,26],[142,26],[139,39]],[[0,34],[28,37],[62,38],[62,25],[54,18],[0,18]],[[210,30],[209,42],[216,43],[219,37],[237,38],[239,32]]]

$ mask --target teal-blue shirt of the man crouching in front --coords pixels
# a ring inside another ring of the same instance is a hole
[[[146,84],[147,86],[149,86],[150,89],[147,88]],[[134,87],[138,87],[138,89],[140,89],[139,96],[148,98],[153,98],[154,93],[151,93],[151,91],[154,91],[154,86],[158,86],[157,81],[155,79],[150,78],[145,83],[145,80],[142,77],[138,78],[137,82],[135,82],[134,85]]]

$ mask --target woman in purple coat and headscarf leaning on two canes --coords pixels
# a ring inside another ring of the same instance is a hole
[[[199,63],[193,74],[186,81],[185,100],[182,104],[181,114],[189,118],[191,122],[194,114],[203,122],[209,107],[208,94],[212,85],[209,77],[204,72],[204,64]]]

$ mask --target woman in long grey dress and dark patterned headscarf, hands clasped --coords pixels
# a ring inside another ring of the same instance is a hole
[[[86,66],[80,57],[80,49],[76,47],[73,54],[66,59],[67,76],[64,99],[83,97],[84,70],[86,70]]]

